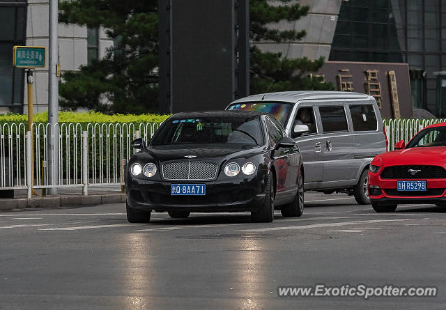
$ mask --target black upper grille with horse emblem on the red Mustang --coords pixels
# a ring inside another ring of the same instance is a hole
[[[415,175],[409,169],[420,170]],[[381,173],[381,178],[392,179],[431,179],[446,178],[446,170],[441,166],[389,166]]]

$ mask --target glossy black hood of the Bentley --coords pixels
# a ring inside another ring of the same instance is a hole
[[[169,160],[187,160],[185,156],[196,156],[194,159],[215,158],[229,159],[233,157],[250,157],[261,152],[261,146],[252,147],[238,144],[193,144],[193,145],[170,145],[151,146],[146,152],[155,157],[160,162]]]

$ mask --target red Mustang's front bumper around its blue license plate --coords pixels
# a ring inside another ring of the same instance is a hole
[[[401,179],[406,180],[406,179]],[[426,180],[426,192],[398,192],[396,179],[380,178],[378,173],[369,172],[369,198],[383,205],[398,203],[445,203],[446,179]],[[376,190],[378,188],[378,190]]]

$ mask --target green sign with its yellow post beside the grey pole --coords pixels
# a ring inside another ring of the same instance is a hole
[[[13,47],[13,66],[25,68],[26,84],[28,84],[28,130],[31,132],[31,186],[34,185],[34,152],[33,152],[33,68],[45,68],[45,47],[18,46]],[[32,193],[34,190],[32,189]]]

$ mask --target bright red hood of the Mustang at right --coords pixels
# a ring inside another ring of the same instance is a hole
[[[436,163],[440,165],[446,164],[446,146],[431,146],[431,147],[418,147],[408,148],[404,150],[394,150],[376,156],[374,164],[384,165],[407,165],[414,164],[420,165],[420,163],[427,164]]]

